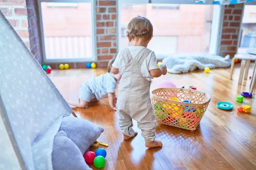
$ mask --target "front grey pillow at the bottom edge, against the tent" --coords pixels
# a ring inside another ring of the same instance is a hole
[[[54,170],[91,170],[79,148],[62,130],[54,137],[52,167]]]

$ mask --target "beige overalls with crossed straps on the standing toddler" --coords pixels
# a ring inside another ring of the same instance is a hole
[[[136,57],[132,58],[128,48],[120,51],[120,57],[125,62],[125,70],[120,73],[117,113],[119,127],[124,135],[134,136],[132,119],[137,121],[145,142],[152,142],[156,138],[157,125],[150,99],[150,84],[141,74],[141,65],[145,57],[151,52],[143,48]],[[120,69],[120,68],[119,68]]]

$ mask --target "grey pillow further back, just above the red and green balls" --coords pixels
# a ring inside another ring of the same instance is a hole
[[[67,137],[76,144],[82,154],[104,131],[103,127],[99,125],[73,116],[65,116],[63,118],[60,130],[67,134]]]

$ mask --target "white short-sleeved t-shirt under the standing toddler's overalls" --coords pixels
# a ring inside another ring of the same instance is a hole
[[[128,49],[131,53],[131,56],[134,58],[136,55],[145,47],[143,46],[129,46]],[[112,64],[114,68],[118,68],[119,72],[122,73],[125,69],[125,61],[117,54],[115,62]],[[151,77],[148,71],[159,68],[157,65],[157,58],[154,54],[154,51],[148,54],[141,65],[141,74],[149,81],[154,77]]]

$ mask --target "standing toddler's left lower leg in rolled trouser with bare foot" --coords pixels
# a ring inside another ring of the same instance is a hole
[[[137,135],[137,132],[134,132],[133,130],[133,122],[131,119],[131,116],[126,114],[124,111],[119,110],[117,111],[118,114],[118,119],[119,119],[119,127],[120,130],[122,132],[122,134],[124,135],[124,139],[128,140],[131,137]]]

